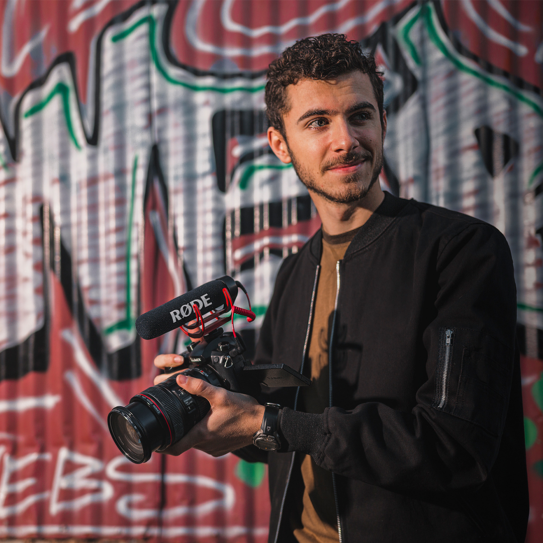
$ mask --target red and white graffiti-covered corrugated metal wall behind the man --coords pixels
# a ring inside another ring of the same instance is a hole
[[[319,228],[270,152],[266,67],[339,31],[376,54],[381,184],[494,224],[515,262],[531,490],[543,533],[543,6],[530,0],[0,1],[0,537],[263,542],[266,468],[130,464],[106,416],[172,332],[139,314],[225,273],[257,319]]]

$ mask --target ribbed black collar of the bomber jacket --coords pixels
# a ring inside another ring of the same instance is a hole
[[[375,241],[392,224],[407,203],[408,200],[403,200],[385,191],[381,205],[377,207],[371,214],[371,217],[362,225],[356,236],[352,238],[345,256],[348,256],[353,251],[363,249]],[[317,263],[320,262],[320,255],[323,248],[322,240],[323,229],[319,228],[310,240],[310,253],[317,260]]]

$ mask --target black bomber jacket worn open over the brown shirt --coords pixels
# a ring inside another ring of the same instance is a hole
[[[319,231],[282,263],[256,363],[304,371],[320,251]],[[263,399],[284,406],[281,451],[267,457],[269,541],[293,540],[300,451],[334,473],[342,543],[523,542],[528,491],[506,239],[481,220],[386,193],[338,273],[331,407],[296,411],[292,388]]]

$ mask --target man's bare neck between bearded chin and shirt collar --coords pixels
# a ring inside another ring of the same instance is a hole
[[[384,199],[384,193],[378,181],[367,196],[350,204],[332,202],[312,191],[310,191],[310,196],[323,223],[323,230],[331,236],[362,226]]]

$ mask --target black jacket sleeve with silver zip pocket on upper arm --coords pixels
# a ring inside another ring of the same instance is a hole
[[[394,491],[477,488],[500,447],[515,360],[516,292],[505,238],[470,224],[435,260],[435,317],[422,332],[427,381],[411,412],[378,401],[352,411],[285,408],[287,450]],[[518,371],[516,372],[518,374]]]

